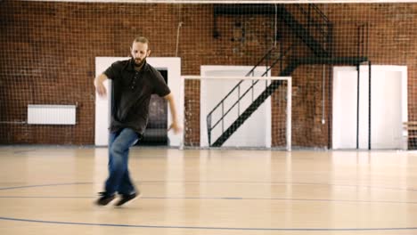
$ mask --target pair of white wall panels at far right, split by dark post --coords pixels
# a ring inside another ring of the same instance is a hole
[[[359,83],[359,149],[368,149],[369,67],[361,66]],[[407,68],[372,65],[371,148],[405,149]],[[333,69],[333,149],[356,149],[356,67]]]

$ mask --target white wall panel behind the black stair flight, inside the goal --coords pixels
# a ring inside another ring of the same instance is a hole
[[[251,66],[201,66],[201,77],[244,77]],[[266,67],[258,67],[255,71],[255,77],[260,77],[266,71]],[[268,74],[269,75],[269,74]],[[208,147],[208,130],[207,115],[219,101],[221,101],[233,86],[240,79],[202,79],[200,82],[200,146]],[[243,87],[248,87],[250,82],[246,81]],[[260,81],[263,85],[257,84],[255,90],[255,98],[259,93],[265,90],[265,81]],[[246,89],[241,89],[243,93]],[[228,99],[225,107],[229,109],[231,102],[237,101],[237,92],[233,93],[234,98]],[[241,113],[251,103],[250,95],[246,95],[241,101]],[[221,109],[219,109],[221,110]],[[226,111],[226,109],[225,109]],[[213,115],[212,125],[221,117],[220,113]],[[238,118],[237,108],[233,108],[231,113],[225,118],[225,129],[230,126],[233,121]],[[219,124],[221,126],[221,124]],[[217,126],[212,131],[211,142],[215,142],[221,134],[221,127]],[[223,144],[224,147],[271,147],[271,99],[266,101],[254,112],[237,131]]]

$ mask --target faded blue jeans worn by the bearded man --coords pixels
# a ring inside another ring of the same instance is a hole
[[[139,139],[138,134],[130,128],[118,132],[110,132],[109,139],[109,178],[105,183],[105,192],[108,195],[131,194],[135,187],[129,176],[127,167],[129,148]]]

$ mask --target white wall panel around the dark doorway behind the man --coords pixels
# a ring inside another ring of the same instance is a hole
[[[98,76],[115,61],[127,60],[128,57],[96,57],[95,75]],[[146,59],[156,69],[168,70],[168,86],[176,99],[176,112],[180,125],[184,124],[184,79],[181,77],[181,59],[148,57]],[[105,83],[110,87],[108,82]],[[107,146],[109,143],[109,123],[110,123],[110,89],[106,98],[101,98],[95,94],[95,136],[94,142],[98,146]],[[171,124],[171,110],[168,109],[168,126]],[[183,134],[173,134],[168,132],[170,146],[180,146],[183,144]]]

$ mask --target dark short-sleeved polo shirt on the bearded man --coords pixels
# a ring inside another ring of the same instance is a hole
[[[104,74],[112,80],[110,131],[132,128],[138,134],[148,123],[151,94],[165,96],[170,93],[164,77],[147,62],[140,71],[135,62],[114,62]]]

